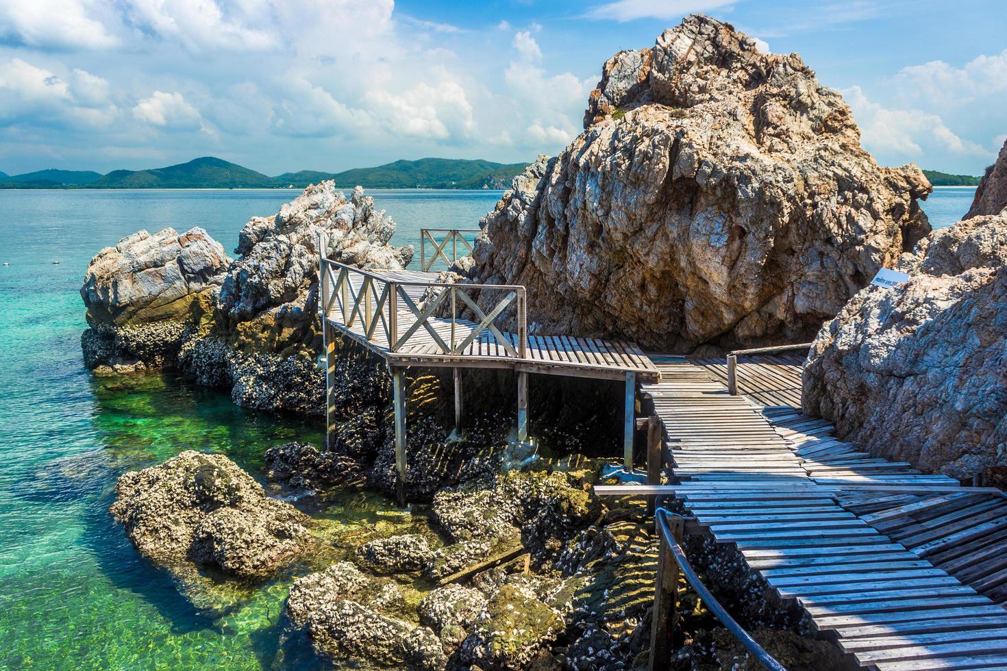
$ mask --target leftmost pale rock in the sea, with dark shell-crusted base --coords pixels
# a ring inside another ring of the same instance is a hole
[[[171,367],[185,336],[211,310],[231,260],[202,228],[140,230],[102,249],[81,296],[85,363],[99,373]]]

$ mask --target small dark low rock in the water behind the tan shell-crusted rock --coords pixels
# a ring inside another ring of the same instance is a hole
[[[266,477],[299,493],[333,487],[359,487],[365,482],[359,462],[346,455],[321,452],[309,443],[284,443],[266,451]]]

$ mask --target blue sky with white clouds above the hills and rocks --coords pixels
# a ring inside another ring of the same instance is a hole
[[[882,165],[981,174],[1007,140],[1004,0],[0,0],[0,171],[530,161],[690,12],[801,53]]]

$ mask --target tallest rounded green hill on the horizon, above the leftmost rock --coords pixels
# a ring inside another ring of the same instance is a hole
[[[113,170],[88,186],[100,189],[228,189],[277,186],[274,178],[237,163],[204,156],[150,170]]]

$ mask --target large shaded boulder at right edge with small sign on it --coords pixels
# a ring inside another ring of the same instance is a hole
[[[1007,465],[1007,213],[934,231],[899,268],[908,282],[863,290],[819,333],[805,411],[924,471]]]

